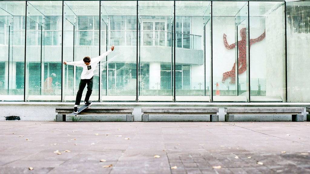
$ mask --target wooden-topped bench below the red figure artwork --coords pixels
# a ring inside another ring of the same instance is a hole
[[[290,114],[292,121],[303,121],[303,107],[225,107],[225,121],[233,122],[234,115],[265,115],[265,114]]]

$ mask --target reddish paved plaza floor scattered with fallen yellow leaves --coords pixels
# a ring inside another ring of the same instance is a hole
[[[309,174],[310,122],[0,121],[0,173]]]

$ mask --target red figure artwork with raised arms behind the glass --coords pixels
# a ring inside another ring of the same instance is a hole
[[[255,38],[255,39],[250,39],[250,48],[251,48],[252,44],[263,40],[265,38],[265,33],[266,33],[266,31],[264,31],[264,33],[262,35],[260,35],[259,37]],[[240,75],[246,71],[246,28],[242,28],[240,30],[240,35],[241,35],[241,40],[238,41],[238,43],[237,43],[238,53],[239,53],[239,55],[238,55],[239,56],[238,57],[238,75]],[[228,45],[225,33],[223,35],[223,40],[224,40],[224,45],[225,45],[227,50],[231,50],[231,49],[235,48],[235,46],[236,46],[235,43]],[[235,84],[235,81],[236,81],[235,71],[236,71],[236,63],[233,64],[232,70],[223,73],[222,82],[224,83],[227,78],[231,77],[231,81],[229,83]]]

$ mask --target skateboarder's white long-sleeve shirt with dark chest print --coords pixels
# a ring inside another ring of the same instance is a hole
[[[95,68],[96,68],[97,64],[101,61],[102,58],[104,58],[105,56],[107,56],[111,52],[112,52],[112,50],[110,49],[110,50],[108,50],[107,52],[101,54],[98,57],[91,58],[91,62],[90,62],[90,64],[88,66],[85,65],[83,60],[74,61],[74,62],[67,62],[67,65],[73,65],[73,66],[82,67],[83,71],[82,71],[82,74],[81,74],[81,79],[91,79],[91,77],[94,76],[94,71],[95,71]]]

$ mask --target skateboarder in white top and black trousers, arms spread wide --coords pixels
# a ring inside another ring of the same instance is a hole
[[[90,106],[91,101],[89,101],[89,98],[91,96],[91,92],[93,90],[93,76],[94,76],[94,70],[97,66],[97,64],[100,62],[102,58],[110,54],[114,50],[114,45],[111,46],[111,49],[108,50],[107,52],[101,54],[98,57],[95,58],[89,58],[89,57],[84,57],[83,60],[80,61],[74,61],[74,62],[64,62],[65,65],[73,65],[73,66],[79,66],[83,68],[82,74],[81,74],[81,81],[77,93],[77,97],[75,100],[75,105],[74,105],[74,113],[78,113],[78,105],[80,105],[83,90],[87,84],[87,93],[85,96],[85,104]]]

